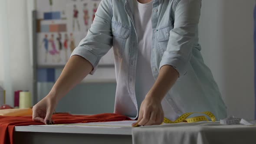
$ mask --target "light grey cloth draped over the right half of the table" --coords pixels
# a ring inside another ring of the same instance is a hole
[[[164,124],[132,129],[133,144],[256,144],[256,126],[220,122]]]

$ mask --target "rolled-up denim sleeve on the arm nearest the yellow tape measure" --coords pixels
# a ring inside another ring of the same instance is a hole
[[[198,33],[201,0],[174,0],[174,29],[170,31],[167,49],[160,62],[171,65],[180,77],[187,72],[193,44]]]

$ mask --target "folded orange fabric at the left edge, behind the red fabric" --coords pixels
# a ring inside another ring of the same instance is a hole
[[[0,110],[3,116],[32,116],[32,108],[13,108]]]

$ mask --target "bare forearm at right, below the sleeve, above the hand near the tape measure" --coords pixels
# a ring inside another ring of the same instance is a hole
[[[158,78],[147,96],[162,100],[177,81],[178,77],[179,73],[171,65],[162,66]]]

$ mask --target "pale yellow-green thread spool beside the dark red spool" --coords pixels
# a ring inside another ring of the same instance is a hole
[[[28,91],[20,92],[20,108],[30,108],[31,103],[31,93]]]

